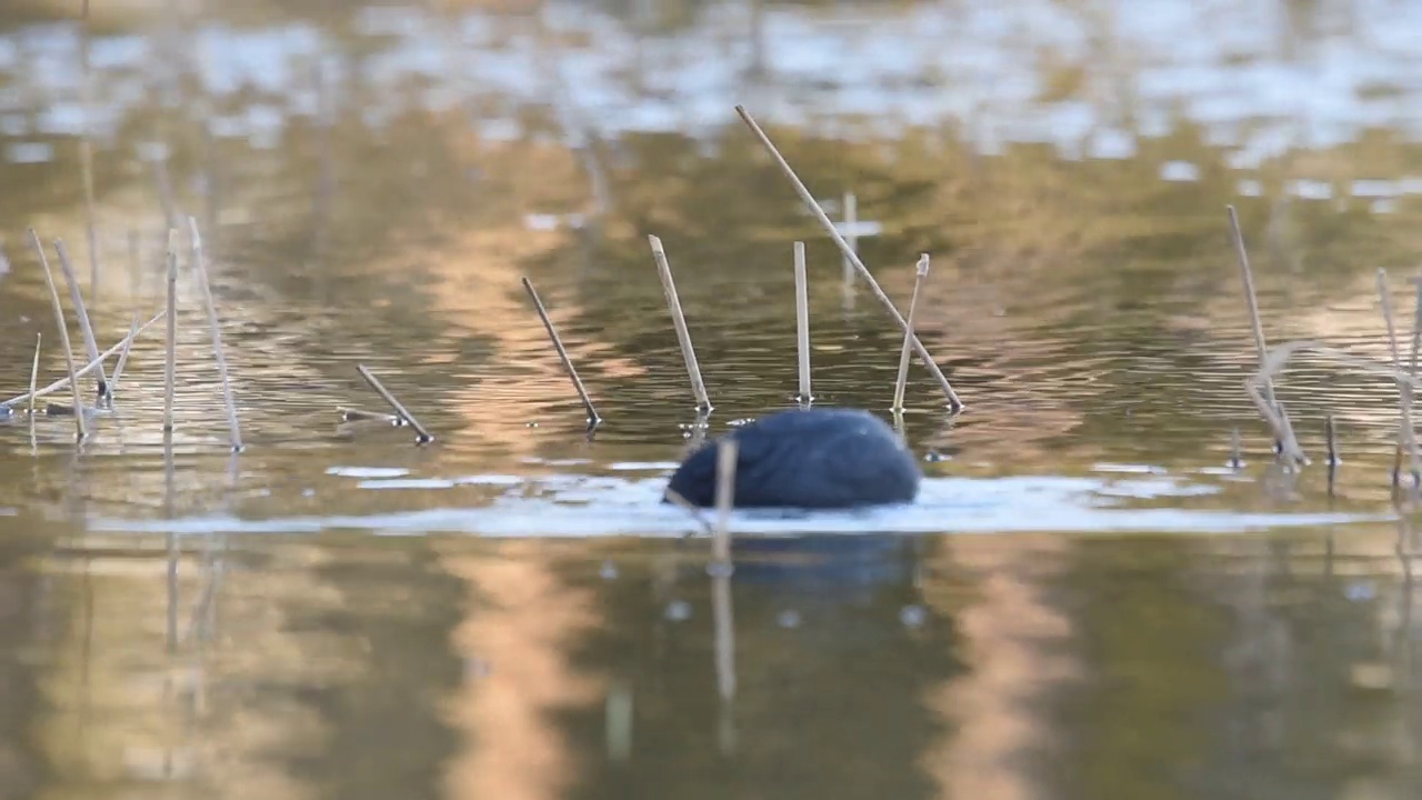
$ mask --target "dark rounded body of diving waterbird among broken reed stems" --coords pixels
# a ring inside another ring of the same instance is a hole
[[[887,423],[855,409],[791,409],[725,436],[739,444],[738,508],[857,508],[912,502],[919,464]],[[715,505],[717,443],[687,457],[667,484],[688,502]]]

